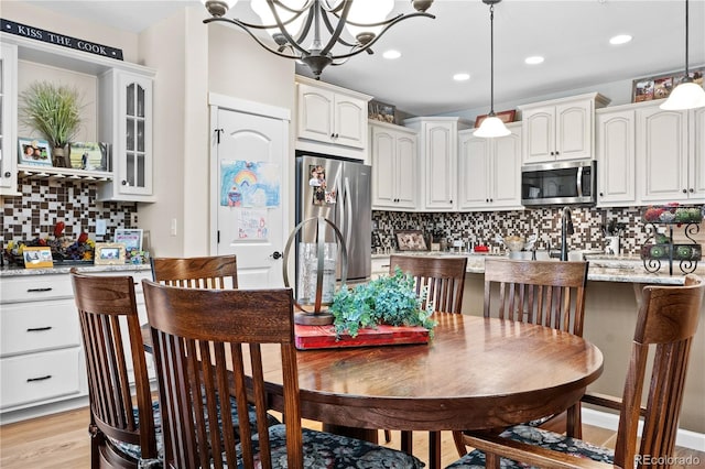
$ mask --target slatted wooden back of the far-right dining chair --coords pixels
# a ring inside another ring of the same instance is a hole
[[[673,455],[704,292],[705,283],[695,275],[686,275],[684,286],[643,288],[622,394],[615,445],[616,465],[631,467],[637,454],[649,455],[651,461],[668,461]],[[637,430],[644,386],[648,386],[646,417],[639,438]],[[638,467],[642,465],[646,467],[646,461]]]

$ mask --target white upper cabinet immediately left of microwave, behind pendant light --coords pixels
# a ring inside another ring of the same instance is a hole
[[[521,209],[521,124],[497,139],[458,132],[458,208],[460,210]]]

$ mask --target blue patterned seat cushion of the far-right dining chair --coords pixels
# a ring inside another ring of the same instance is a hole
[[[611,449],[595,446],[583,441],[582,439],[572,438],[530,425],[513,426],[502,433],[501,436],[516,441],[522,441],[530,445],[541,446],[542,448],[561,451],[566,455],[575,456],[576,458],[593,459],[599,462],[612,463],[615,457]],[[512,461],[507,458],[501,458],[500,466],[502,469],[534,468],[533,466]],[[485,452],[476,449],[465,455],[462,459],[452,463],[446,469],[477,469],[484,467]]]

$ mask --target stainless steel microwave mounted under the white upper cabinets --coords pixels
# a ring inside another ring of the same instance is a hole
[[[521,204],[594,205],[596,162],[592,160],[532,164],[521,167]]]

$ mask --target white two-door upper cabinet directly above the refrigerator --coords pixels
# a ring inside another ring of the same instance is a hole
[[[301,76],[296,90],[297,149],[366,157],[370,96]]]

